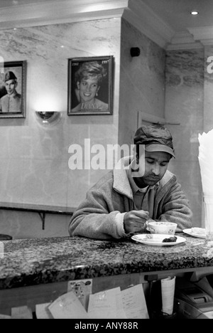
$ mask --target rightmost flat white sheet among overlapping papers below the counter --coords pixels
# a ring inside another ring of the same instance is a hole
[[[143,285],[134,285],[121,291],[126,318],[148,319],[146,299],[143,292]]]

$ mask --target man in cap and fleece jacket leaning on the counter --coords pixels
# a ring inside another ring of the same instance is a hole
[[[149,221],[191,228],[192,211],[176,176],[168,171],[175,157],[173,137],[164,127],[142,126],[134,137],[133,157],[122,159],[87,192],[73,214],[70,236],[109,239],[146,232]]]

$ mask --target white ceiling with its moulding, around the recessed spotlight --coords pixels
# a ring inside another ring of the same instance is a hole
[[[213,44],[212,0],[0,0],[0,29],[117,16],[163,48]]]

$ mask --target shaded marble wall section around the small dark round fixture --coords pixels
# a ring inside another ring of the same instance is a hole
[[[119,143],[133,143],[138,111],[164,116],[165,51],[122,20]],[[140,48],[131,57],[130,49]]]

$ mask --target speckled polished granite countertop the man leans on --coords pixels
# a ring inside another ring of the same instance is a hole
[[[0,242],[0,289],[119,274],[213,266],[213,248],[186,238],[175,246],[80,237]],[[3,249],[4,248],[4,249]]]

